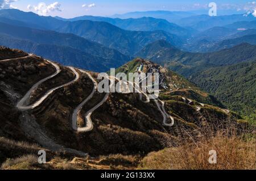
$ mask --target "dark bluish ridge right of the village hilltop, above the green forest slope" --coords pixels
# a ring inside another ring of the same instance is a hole
[[[189,53],[173,47],[170,48],[171,45],[161,42],[156,41],[149,44],[137,56],[148,58],[185,77],[214,66],[232,65],[256,58],[256,47],[250,44],[240,44],[230,49],[212,53]],[[162,48],[155,49],[154,47],[158,47],[156,44]]]

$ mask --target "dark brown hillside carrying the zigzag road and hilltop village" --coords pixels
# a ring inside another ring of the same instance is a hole
[[[18,57],[0,58],[0,137],[4,139],[79,157],[144,155],[163,149],[166,140],[179,145],[187,133],[196,140],[205,128],[244,125],[213,96],[146,60],[136,59],[118,71],[138,71],[141,65],[145,73],[158,71],[159,99],[149,100],[141,93],[100,93],[96,73],[23,52]],[[15,149],[2,147],[0,162],[17,156]]]

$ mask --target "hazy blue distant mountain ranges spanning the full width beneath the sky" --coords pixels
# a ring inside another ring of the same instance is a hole
[[[141,14],[142,12],[139,12]],[[168,14],[168,11],[147,12],[148,16]],[[136,14],[136,13],[135,13]],[[80,16],[73,19],[53,18],[51,16],[39,16],[32,12],[19,10],[0,10],[0,22],[13,24],[14,26],[37,28],[41,30],[52,30],[63,33],[73,33],[85,39],[100,43],[105,47],[117,49],[119,52],[134,56],[147,44],[157,40],[166,40],[177,48],[189,52],[212,52],[223,48],[230,48],[233,45],[220,43],[225,39],[233,39],[246,35],[253,35],[254,31],[234,28],[232,23],[242,21],[254,24],[254,16],[227,15],[210,17],[208,15],[193,15],[189,12],[180,14],[182,26],[170,23],[166,19],[138,18],[119,19],[100,16]],[[184,15],[182,15],[184,14]],[[26,17],[26,18],[21,18]],[[209,23],[210,22],[210,23]],[[199,24],[205,26],[197,27]],[[241,23],[240,23],[241,24]],[[216,27],[217,26],[217,27]],[[226,26],[226,27],[221,27]],[[248,27],[247,25],[246,27]],[[242,26],[238,26],[242,27]],[[251,25],[253,27],[253,25]],[[198,32],[197,30],[201,30]],[[208,30],[207,30],[208,29]],[[245,33],[243,33],[245,32]],[[240,43],[251,43],[252,41],[241,41]],[[225,45],[219,45],[225,44]]]

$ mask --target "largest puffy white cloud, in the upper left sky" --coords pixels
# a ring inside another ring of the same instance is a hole
[[[60,6],[61,4],[59,2],[51,3],[48,6],[44,2],[40,2],[37,6],[34,6],[34,10],[38,12],[39,15],[45,16],[52,11],[62,11]]]

